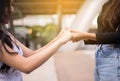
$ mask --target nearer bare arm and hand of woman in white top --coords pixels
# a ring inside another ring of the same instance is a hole
[[[14,67],[22,72],[30,73],[37,67],[41,66],[46,60],[48,60],[59,47],[65,44],[72,38],[72,34],[68,31],[65,31],[55,42],[46,47],[45,50],[38,51],[37,53],[29,56],[23,57],[19,54],[11,55],[8,54],[5,49],[2,47],[3,55],[0,57],[1,61],[5,64]],[[7,46],[9,51],[14,51],[13,49]]]

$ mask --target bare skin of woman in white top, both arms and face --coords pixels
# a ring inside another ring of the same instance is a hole
[[[9,18],[14,11],[13,0],[11,0],[11,11],[8,14],[8,8],[5,9],[5,20],[4,23],[7,24],[9,22]],[[45,61],[47,61],[63,44],[67,43],[72,38],[72,33],[67,30],[62,30],[57,37],[55,37],[51,42],[45,45],[42,48],[37,50],[31,50],[20,43],[17,39],[15,39],[12,35],[10,35],[11,39],[16,42],[18,46],[21,47],[23,51],[23,56],[20,54],[8,54],[4,47],[1,47],[2,53],[0,54],[0,62],[3,62],[11,67],[14,67],[24,73],[30,73],[39,66],[41,66]],[[0,42],[1,43],[1,42]],[[14,52],[9,46],[7,49],[11,52]]]

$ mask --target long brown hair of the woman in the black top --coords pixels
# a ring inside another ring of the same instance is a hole
[[[104,27],[116,30],[120,24],[120,0],[109,0],[103,5],[100,13],[101,23]]]

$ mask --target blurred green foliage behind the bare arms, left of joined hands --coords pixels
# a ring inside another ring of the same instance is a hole
[[[47,24],[46,26],[31,26],[32,34],[30,35],[31,40],[38,40],[39,43],[44,46],[50,42],[57,34],[58,27],[55,24]]]

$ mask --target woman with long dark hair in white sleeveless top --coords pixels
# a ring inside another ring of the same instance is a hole
[[[33,51],[5,30],[13,11],[13,0],[0,0],[0,81],[22,81],[21,71],[35,70],[72,38],[71,32],[63,30],[46,46]]]

